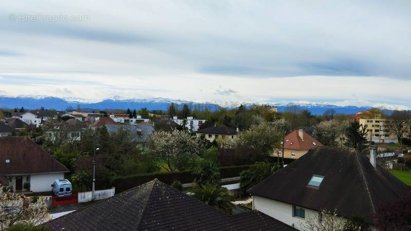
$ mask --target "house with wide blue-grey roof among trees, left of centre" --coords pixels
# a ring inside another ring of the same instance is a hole
[[[138,144],[147,142],[148,137],[154,133],[153,125],[145,122],[138,124],[107,124],[106,128],[109,133],[119,132],[124,129],[129,132],[132,141]]]

